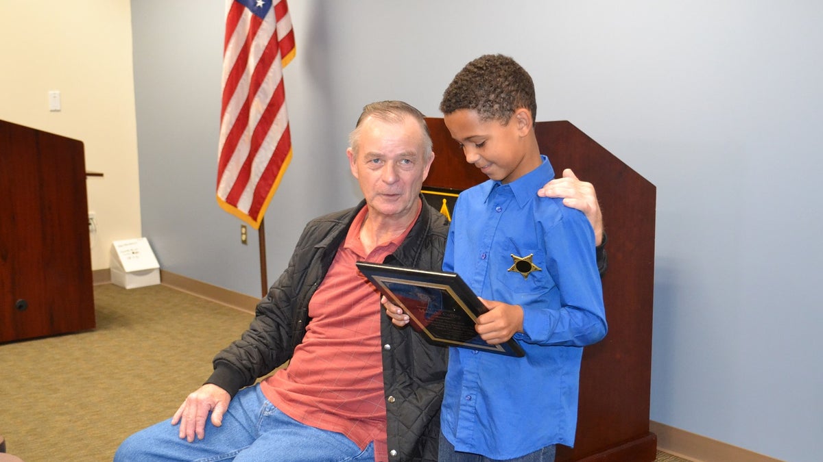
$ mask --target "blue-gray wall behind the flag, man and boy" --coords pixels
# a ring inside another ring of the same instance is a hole
[[[306,220],[359,200],[345,149],[363,104],[439,116],[463,64],[506,53],[538,120],[570,120],[658,187],[650,418],[816,460],[823,7],[754,3],[291,2],[295,155],[266,217],[270,280]],[[222,16],[133,2],[142,231],[165,270],[258,295],[256,233],[241,245],[214,199]]]

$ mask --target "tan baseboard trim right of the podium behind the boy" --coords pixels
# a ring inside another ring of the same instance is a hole
[[[649,420],[649,431],[658,436],[658,450],[694,462],[783,462],[653,420]]]

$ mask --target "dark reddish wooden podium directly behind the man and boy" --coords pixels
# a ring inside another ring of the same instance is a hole
[[[488,178],[467,164],[442,118],[426,118],[435,162],[423,186],[436,208]],[[608,236],[603,298],[609,331],[584,349],[574,449],[558,446],[558,462],[650,462],[649,432],[656,188],[570,122],[537,122],[537,142],[558,177],[570,168],[591,182]],[[427,192],[428,191],[428,192]]]

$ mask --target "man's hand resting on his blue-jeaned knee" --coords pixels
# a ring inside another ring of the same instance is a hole
[[[186,397],[183,404],[180,404],[171,424],[180,424],[179,436],[188,442],[193,442],[194,437],[202,440],[206,436],[206,419],[209,412],[212,413],[212,425],[220,427],[223,423],[223,414],[229,408],[231,395],[221,387],[207,383],[195,390]]]

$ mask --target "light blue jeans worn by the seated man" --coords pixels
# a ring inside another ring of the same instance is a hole
[[[171,419],[128,437],[115,462],[151,460],[294,462],[373,462],[374,442],[365,450],[342,433],[310,427],[275,408],[260,386],[240,390],[223,415],[221,427],[207,419],[205,437],[189,443],[179,438]]]

